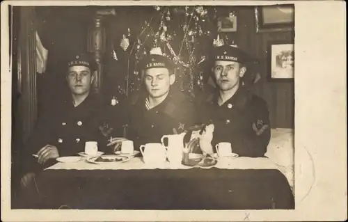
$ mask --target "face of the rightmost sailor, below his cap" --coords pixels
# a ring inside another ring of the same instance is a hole
[[[213,72],[220,90],[226,91],[239,84],[239,79],[244,76],[246,68],[241,68],[239,63],[233,61],[215,61]]]

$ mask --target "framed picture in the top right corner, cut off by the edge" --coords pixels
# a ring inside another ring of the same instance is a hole
[[[294,4],[255,6],[256,32],[294,31]]]

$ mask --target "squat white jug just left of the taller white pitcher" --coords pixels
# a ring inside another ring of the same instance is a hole
[[[159,164],[166,161],[166,148],[161,143],[146,143],[140,146],[145,164]]]

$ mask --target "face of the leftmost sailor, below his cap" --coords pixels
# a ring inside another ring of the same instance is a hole
[[[90,90],[90,86],[93,82],[93,75],[90,73],[90,68],[77,65],[69,68],[67,79],[72,94],[84,95]]]

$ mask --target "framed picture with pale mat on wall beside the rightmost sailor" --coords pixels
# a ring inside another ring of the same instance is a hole
[[[269,79],[272,81],[294,80],[294,44],[269,43]]]

